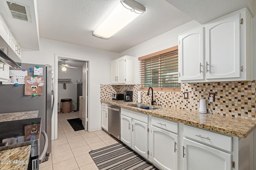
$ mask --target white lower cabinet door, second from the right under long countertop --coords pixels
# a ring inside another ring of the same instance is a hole
[[[178,169],[178,135],[151,126],[150,161],[163,170]]]

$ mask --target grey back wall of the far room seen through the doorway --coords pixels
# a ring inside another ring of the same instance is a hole
[[[64,98],[71,98],[73,100],[71,110],[76,110],[76,80],[78,80],[78,82],[82,80],[82,67],[67,68],[66,72],[62,72],[61,68],[58,68],[58,78],[71,78],[71,82],[65,82],[66,89],[63,88],[64,82],[58,82],[58,110],[60,109],[60,100]]]

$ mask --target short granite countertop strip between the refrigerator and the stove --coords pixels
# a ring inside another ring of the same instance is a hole
[[[21,111],[13,113],[0,113],[0,122],[13,121],[20,119],[30,119],[38,117],[38,110],[35,111]]]

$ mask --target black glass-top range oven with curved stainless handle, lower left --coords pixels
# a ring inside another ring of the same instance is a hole
[[[48,148],[48,142],[46,142],[43,149],[44,154],[40,155],[41,133],[48,141],[47,135],[41,127],[41,117],[0,122],[0,150],[31,145],[27,169],[38,170],[40,159],[43,159],[44,152]]]

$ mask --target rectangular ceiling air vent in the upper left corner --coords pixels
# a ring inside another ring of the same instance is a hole
[[[6,1],[13,18],[23,21],[30,21],[29,8],[26,5]]]

